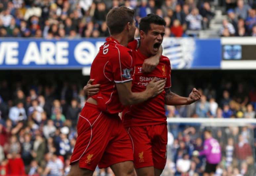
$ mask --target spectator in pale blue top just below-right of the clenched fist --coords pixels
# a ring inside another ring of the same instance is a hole
[[[198,117],[207,117],[208,112],[210,111],[209,102],[206,100],[206,96],[202,95],[200,102],[196,104],[195,113]]]

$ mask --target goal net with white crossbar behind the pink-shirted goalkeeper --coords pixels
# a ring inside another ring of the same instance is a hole
[[[205,130],[210,130],[221,146],[216,176],[256,173],[256,119],[168,118],[167,122],[167,163],[162,176],[202,175],[206,159],[193,152],[203,150]]]

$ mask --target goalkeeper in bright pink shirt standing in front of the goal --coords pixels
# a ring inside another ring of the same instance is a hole
[[[206,157],[206,166],[203,176],[213,176],[216,172],[216,167],[221,161],[221,147],[219,142],[212,137],[209,130],[204,131],[204,150],[199,152],[199,156]],[[197,151],[193,154],[197,155]]]

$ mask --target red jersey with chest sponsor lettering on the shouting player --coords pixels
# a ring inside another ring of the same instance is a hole
[[[165,88],[171,87],[171,65],[170,60],[161,56],[159,64],[151,73],[143,73],[142,65],[146,56],[140,50],[133,51],[135,61],[135,74],[133,78],[132,92],[146,90],[148,83],[157,77],[157,80],[166,79]],[[146,102],[127,106],[123,111],[124,126],[148,126],[166,123],[163,91],[158,96]]]

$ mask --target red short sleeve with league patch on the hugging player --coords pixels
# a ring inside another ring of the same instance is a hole
[[[127,48],[116,45],[117,57],[111,59],[112,73],[115,83],[124,83],[132,80],[133,58]]]

